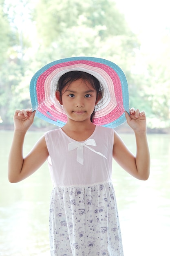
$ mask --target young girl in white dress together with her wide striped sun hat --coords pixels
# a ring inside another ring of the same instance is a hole
[[[35,111],[15,111],[9,181],[24,180],[48,159],[53,256],[123,256],[112,160],[140,180],[150,170],[146,115],[124,111],[126,86],[119,67],[102,59],[69,58],[43,67],[31,81],[32,105],[39,117],[62,128],[46,132],[26,157],[24,136]],[[135,132],[136,156],[112,128],[125,117]]]

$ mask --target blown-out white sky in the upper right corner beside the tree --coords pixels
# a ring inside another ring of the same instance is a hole
[[[170,29],[169,0],[115,0],[144,47],[152,48]]]

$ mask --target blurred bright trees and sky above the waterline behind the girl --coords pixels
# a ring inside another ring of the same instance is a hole
[[[124,71],[130,107],[146,111],[148,128],[170,128],[168,0],[0,2],[1,127],[11,126],[16,108],[31,107],[29,83],[38,69],[60,58],[95,56]]]

